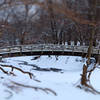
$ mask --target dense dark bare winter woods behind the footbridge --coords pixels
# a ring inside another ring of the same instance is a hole
[[[70,45],[71,41],[74,41],[75,45],[78,41],[81,45],[89,45],[92,27],[86,21],[82,24],[80,18],[91,22],[94,14],[94,23],[100,20],[99,0],[96,4],[94,0],[62,0],[61,2],[58,0],[59,3],[55,0],[44,0],[44,7],[40,5],[43,4],[42,2],[38,3],[36,0],[3,1],[0,3],[1,46],[2,44],[4,46],[4,44],[65,44],[66,42]],[[96,5],[95,9],[94,5]],[[98,45],[99,34],[100,25],[95,29],[94,46]]]

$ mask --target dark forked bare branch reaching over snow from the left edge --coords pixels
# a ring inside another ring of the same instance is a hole
[[[1,66],[7,67],[7,68],[11,68],[11,72],[13,72],[13,70],[16,69],[16,70],[18,70],[18,71],[20,71],[20,72],[22,72],[22,73],[24,73],[24,74],[28,74],[29,77],[30,77],[31,79],[32,79],[33,76],[35,77],[35,75],[34,75],[33,73],[23,71],[22,69],[17,68],[17,67],[14,67],[14,66],[12,66],[12,65],[1,65]],[[2,69],[2,68],[1,68],[1,69]]]

